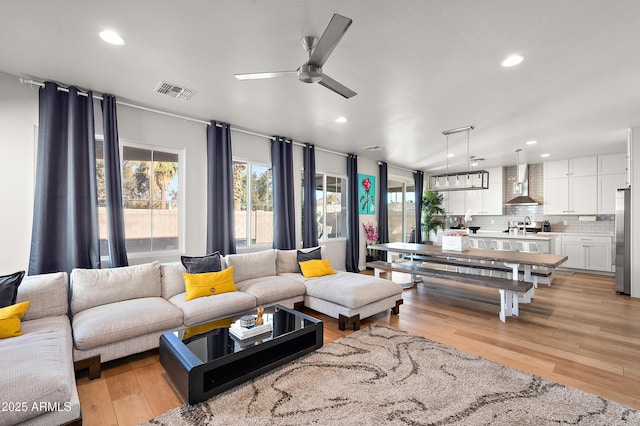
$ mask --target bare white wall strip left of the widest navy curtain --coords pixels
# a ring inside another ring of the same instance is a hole
[[[29,267],[38,88],[0,73],[0,94],[0,275],[4,275]]]

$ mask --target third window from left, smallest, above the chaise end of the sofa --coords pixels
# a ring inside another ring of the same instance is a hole
[[[346,178],[322,173],[316,174],[318,240],[347,236],[346,194]]]

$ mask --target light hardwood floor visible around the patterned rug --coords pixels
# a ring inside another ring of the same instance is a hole
[[[613,277],[556,275],[520,316],[498,319],[496,290],[428,280],[403,292],[400,315],[386,324],[532,374],[640,409],[640,299],[617,295]],[[351,331],[325,322],[325,343]],[[102,377],[77,378],[85,425],[129,425],[182,404],[150,351],[103,366]]]

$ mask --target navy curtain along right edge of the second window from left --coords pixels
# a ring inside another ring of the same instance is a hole
[[[293,188],[293,143],[280,136],[271,141],[273,181],[273,248],[296,248]]]

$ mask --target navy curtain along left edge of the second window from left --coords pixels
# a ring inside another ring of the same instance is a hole
[[[227,123],[207,126],[207,253],[236,252],[233,209],[231,128]]]

